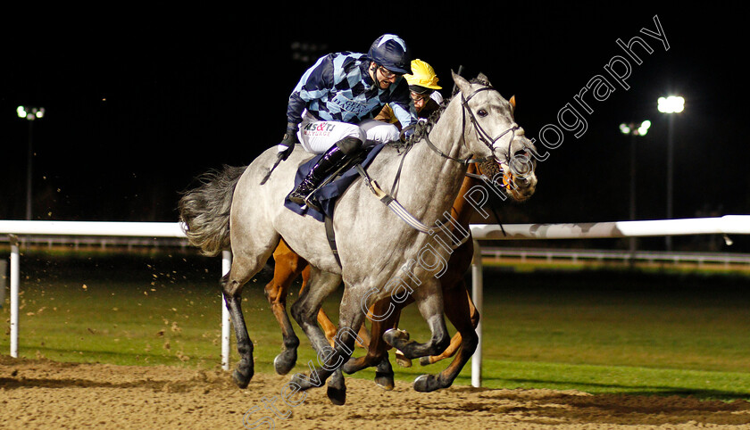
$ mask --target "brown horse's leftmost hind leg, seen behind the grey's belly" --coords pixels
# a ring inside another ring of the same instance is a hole
[[[296,350],[299,346],[299,338],[296,336],[295,329],[287,315],[287,294],[289,286],[307,267],[307,261],[290,250],[283,241],[273,252],[273,260],[276,262],[273,269],[273,279],[265,286],[264,292],[271,305],[273,316],[279,321],[284,344],[283,350],[273,360],[273,367],[279,375],[286,375],[289,370],[295,367]]]

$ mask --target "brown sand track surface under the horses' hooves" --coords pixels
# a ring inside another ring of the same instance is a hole
[[[285,402],[288,380],[255,375],[240,390],[221,370],[0,356],[0,428],[750,428],[747,401],[466,386],[416,393],[405,383],[387,392],[347,377],[346,405],[334,406],[322,388]]]

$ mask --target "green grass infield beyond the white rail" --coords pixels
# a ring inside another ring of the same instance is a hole
[[[21,256],[20,355],[56,361],[187,368],[221,363],[221,261],[190,252]],[[280,329],[262,293],[246,285],[244,310],[257,372],[273,372]],[[587,393],[750,400],[750,278],[629,269],[484,270],[482,385]],[[288,306],[296,300],[293,286]],[[324,303],[334,319],[340,292]],[[8,354],[8,298],[0,353]],[[422,342],[414,307],[400,327]],[[454,328],[448,324],[451,333]],[[302,340],[295,372],[315,362]],[[360,349],[355,355],[362,355]],[[400,368],[412,381],[448,361]],[[237,361],[232,339],[232,363]],[[372,378],[363,370],[353,377]],[[229,375],[228,375],[229,377]],[[471,385],[471,361],[455,385]]]

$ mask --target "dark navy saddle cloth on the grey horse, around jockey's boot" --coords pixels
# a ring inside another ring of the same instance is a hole
[[[370,165],[370,163],[375,159],[375,157],[385,145],[386,144],[378,144],[365,148],[364,160],[359,163],[362,164],[362,168],[367,169],[367,166]],[[295,176],[295,188],[299,186],[300,182],[302,182],[302,180],[307,176],[307,173],[310,171],[312,166],[314,166],[315,163],[320,160],[322,155],[323,154],[318,154],[312,157],[310,161],[305,161],[299,166],[299,169],[297,169]],[[320,203],[321,211],[318,211],[316,208],[311,208],[307,205],[300,205],[291,202],[289,201],[288,196],[284,199],[284,206],[287,207],[288,210],[294,211],[299,215],[310,215],[313,219],[317,219],[321,222],[324,222],[326,217],[333,218],[333,208],[336,204],[338,196],[344,194],[346,188],[350,186],[352,182],[354,182],[354,179],[359,178],[359,173],[356,169],[354,169],[356,164],[356,162],[353,162],[346,171],[340,173],[340,176],[338,178],[330,181],[324,186],[321,186],[312,193],[312,197],[314,197],[314,199],[318,203]]]

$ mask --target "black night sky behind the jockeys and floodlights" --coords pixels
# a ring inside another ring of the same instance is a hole
[[[245,165],[279,142],[287,96],[317,56],[366,52],[382,33],[404,37],[431,63],[444,95],[450,70],[484,72],[505,97],[515,95],[516,120],[537,140],[590,79],[611,78],[604,66],[625,55],[618,38],[642,37],[653,48],[640,51],[640,65],[629,62],[629,89],[615,84],[582,114],[582,136],[566,132],[546,150],[529,203],[497,203],[506,222],[627,219],[630,140],[618,126],[646,119],[637,219],[662,219],[667,120],[656,100],[667,94],[686,99],[673,135],[675,218],[750,212],[747,37],[729,8],[436,5],[410,15],[404,5],[401,14],[371,6],[345,15],[129,7],[4,17],[0,219],[25,217],[29,121],[16,115],[20,104],[46,110],[33,123],[34,219],[174,221],[178,193],[193,178]],[[640,32],[656,29],[654,16],[669,50]],[[307,62],[304,47],[313,49]]]

